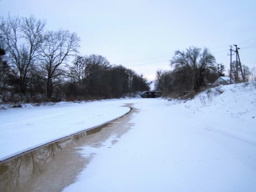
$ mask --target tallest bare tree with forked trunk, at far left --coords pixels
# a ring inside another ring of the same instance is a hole
[[[0,33],[7,53],[7,62],[17,77],[21,93],[26,93],[28,73],[37,51],[44,41],[45,21],[29,18],[10,17],[2,19]]]

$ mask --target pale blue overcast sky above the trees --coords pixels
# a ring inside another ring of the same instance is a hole
[[[209,48],[228,67],[229,45],[238,44],[241,62],[256,67],[255,0],[0,0],[1,16],[8,12],[46,19],[49,30],[76,31],[81,55],[125,67],[151,63],[129,67],[150,80],[158,68],[170,69],[175,50],[189,46]]]

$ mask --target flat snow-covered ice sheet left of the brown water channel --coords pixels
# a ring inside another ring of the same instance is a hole
[[[129,100],[129,99],[128,99]],[[124,100],[65,103],[0,111],[0,161],[129,112]]]

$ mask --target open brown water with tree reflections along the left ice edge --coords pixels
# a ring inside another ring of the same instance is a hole
[[[40,174],[42,164],[52,161],[59,150],[76,143],[85,135],[85,132],[79,133],[0,164],[0,191],[21,191],[21,175],[22,182],[26,183],[30,178]]]

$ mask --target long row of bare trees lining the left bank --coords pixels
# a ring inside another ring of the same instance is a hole
[[[30,17],[0,23],[0,94],[4,101],[119,98],[148,90],[147,79],[92,54],[80,56],[80,38]],[[73,61],[73,62],[72,62]]]

